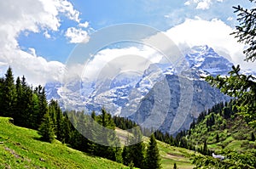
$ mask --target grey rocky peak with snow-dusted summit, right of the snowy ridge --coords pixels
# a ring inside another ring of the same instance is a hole
[[[181,65],[186,62],[189,63],[189,70],[182,70],[180,73],[168,67],[161,77],[164,80],[154,84],[154,87],[137,104],[137,110],[132,110],[135,106],[123,109],[136,112],[129,116],[133,121],[137,121],[143,127],[153,127],[175,134],[180,130],[188,129],[189,124],[201,111],[230,99],[201,79],[201,76],[227,75],[232,66],[227,59],[219,56],[212,48],[202,46],[189,49]],[[163,86],[164,81],[167,86]],[[137,87],[140,85],[137,84]],[[168,89],[163,90],[162,88],[165,87]],[[156,93],[158,98],[155,98]],[[166,97],[167,93],[169,97]],[[165,99],[170,102],[163,101]],[[158,107],[157,103],[160,103],[160,109],[155,110],[154,107]]]

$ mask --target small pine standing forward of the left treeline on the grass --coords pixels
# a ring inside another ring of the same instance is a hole
[[[42,136],[41,139],[51,143],[55,138],[53,122],[49,116],[49,112],[44,115],[42,124],[38,128],[38,133]]]

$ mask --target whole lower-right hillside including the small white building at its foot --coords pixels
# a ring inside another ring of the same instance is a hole
[[[256,168],[256,130],[234,105],[236,101],[215,105],[183,132],[189,149],[203,154],[191,158],[195,168]]]

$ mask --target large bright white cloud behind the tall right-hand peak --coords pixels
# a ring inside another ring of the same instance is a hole
[[[255,70],[255,63],[247,63],[243,60],[245,56],[242,51],[245,45],[238,43],[234,36],[230,36],[233,31],[234,29],[229,25],[217,19],[211,21],[186,20],[183,24],[166,31],[166,35],[181,49],[208,45],[234,64]]]

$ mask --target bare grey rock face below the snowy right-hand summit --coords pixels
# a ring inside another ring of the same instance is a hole
[[[188,86],[181,85],[180,81],[183,81],[183,84],[187,83]],[[137,121],[143,127],[154,127],[163,132],[176,134],[188,129],[190,123],[201,111],[230,99],[200,79],[191,80],[186,77],[166,75],[166,82],[171,96],[169,102],[163,101],[166,99],[166,92],[161,93],[164,82],[157,82],[141,100],[136,113],[130,115],[133,121]],[[181,87],[184,87],[183,90]],[[155,98],[155,93],[159,93],[157,98]],[[154,109],[154,106],[158,106],[159,109]]]

